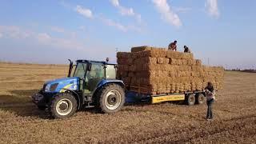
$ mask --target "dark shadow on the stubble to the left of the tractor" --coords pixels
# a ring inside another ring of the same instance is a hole
[[[31,102],[31,95],[38,90],[10,90],[10,95],[0,95],[0,110],[21,117],[49,118],[48,114]]]

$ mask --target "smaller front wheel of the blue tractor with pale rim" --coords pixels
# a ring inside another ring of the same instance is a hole
[[[78,109],[78,102],[70,93],[56,94],[50,103],[50,116],[53,118],[69,118]]]

